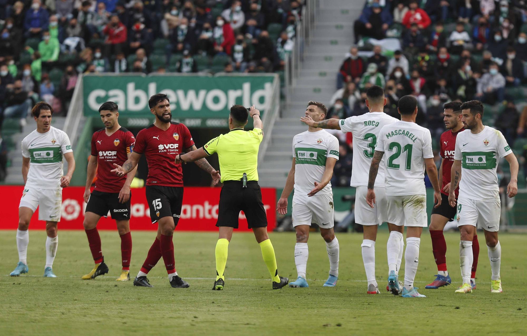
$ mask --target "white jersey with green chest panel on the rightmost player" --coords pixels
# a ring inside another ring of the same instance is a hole
[[[461,160],[459,197],[476,201],[500,200],[496,175],[498,159],[512,153],[500,131],[485,126],[473,134],[465,130],[457,134],[454,160]]]

